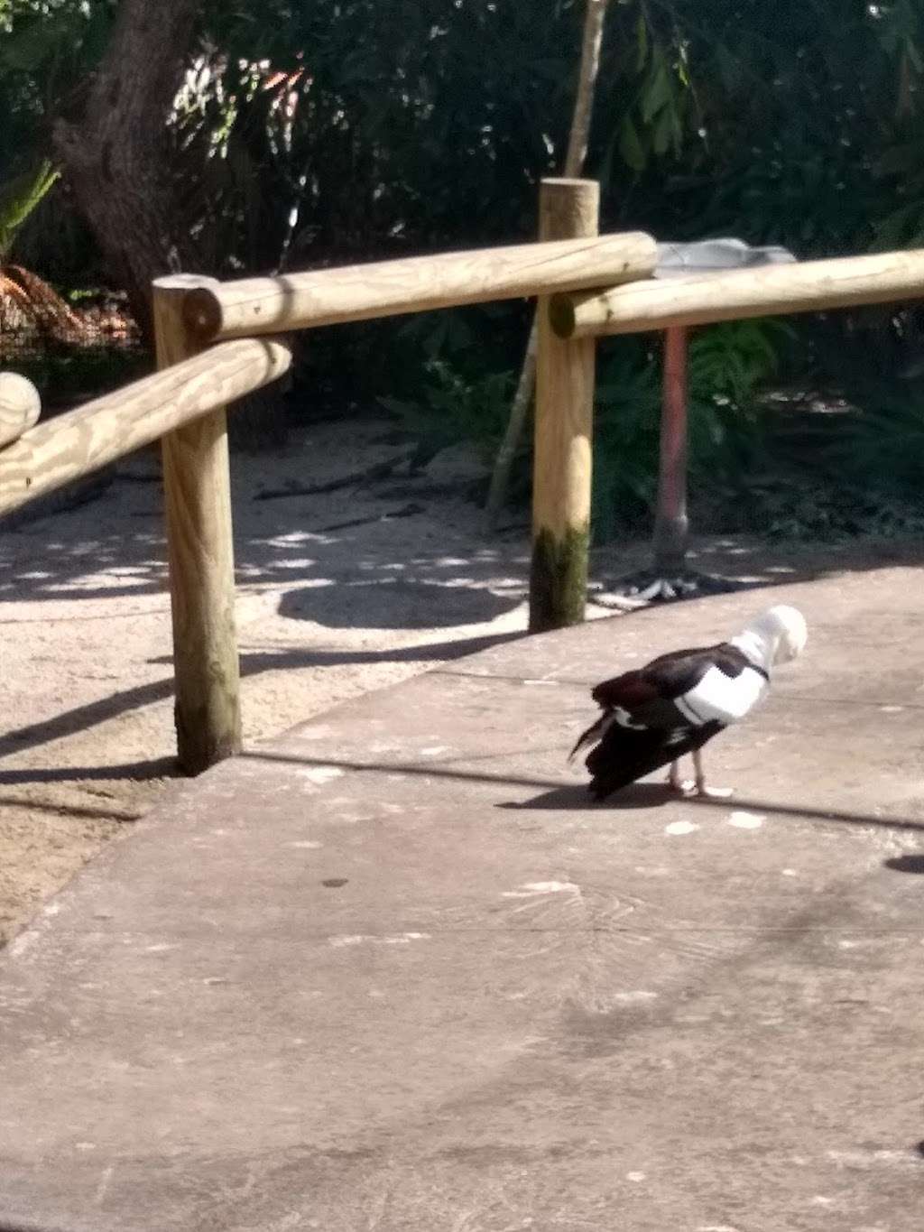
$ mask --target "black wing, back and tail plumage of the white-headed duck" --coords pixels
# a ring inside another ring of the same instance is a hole
[[[744,679],[747,669],[750,669],[749,680]],[[644,668],[599,684],[593,697],[604,713],[584,732],[574,749],[599,742],[586,759],[593,775],[593,795],[609,796],[669,761],[701,749],[727,721],[716,717],[708,705],[701,705],[697,686],[703,681],[731,683],[740,678],[743,689],[753,694],[755,670],[737,647],[719,643],[673,650]]]

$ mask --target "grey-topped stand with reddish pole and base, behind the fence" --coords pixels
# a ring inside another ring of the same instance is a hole
[[[786,248],[752,248],[734,238],[658,244],[655,278],[690,277],[759,265],[781,265],[796,257]],[[664,331],[664,395],[660,420],[658,506],[654,521],[653,564],[616,583],[621,594],[649,601],[689,599],[736,589],[726,578],[695,573],[686,567],[689,519],[686,514],[687,460],[687,326]]]

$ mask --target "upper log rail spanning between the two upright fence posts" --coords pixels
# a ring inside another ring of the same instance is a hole
[[[334,325],[457,304],[602,287],[647,277],[657,260],[642,232],[375,261],[241,278],[186,294],[184,319],[211,341]]]

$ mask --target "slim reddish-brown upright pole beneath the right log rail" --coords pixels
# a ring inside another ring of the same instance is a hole
[[[664,334],[664,395],[660,416],[658,513],[654,520],[654,568],[683,570],[686,559],[686,329]]]

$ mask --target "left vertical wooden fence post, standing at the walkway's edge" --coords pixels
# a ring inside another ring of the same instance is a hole
[[[197,347],[182,322],[190,290],[214,280],[154,282],[158,367]],[[234,543],[224,409],[161,440],[174,621],[176,742],[186,774],[240,752],[240,671],[234,632]]]

